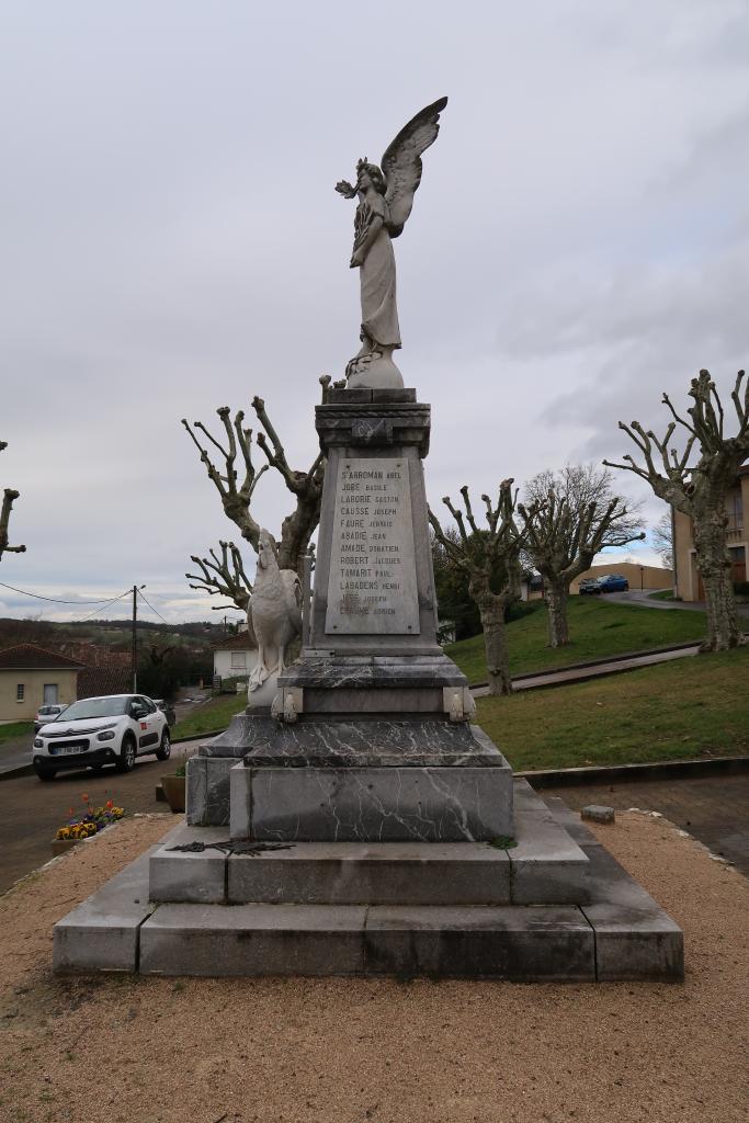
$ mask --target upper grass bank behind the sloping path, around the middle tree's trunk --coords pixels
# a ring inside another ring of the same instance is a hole
[[[510,621],[512,675],[701,640],[706,632],[704,612],[664,612],[597,596],[572,596],[567,608],[570,636],[567,647],[547,647],[548,617],[544,601],[533,601],[532,612]],[[483,636],[450,643],[445,654],[455,659],[471,683],[486,682]]]

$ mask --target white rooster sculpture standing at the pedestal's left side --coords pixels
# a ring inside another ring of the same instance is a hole
[[[301,582],[293,569],[278,568],[273,535],[265,529],[261,530],[257,547],[257,573],[247,620],[257,640],[257,664],[247,683],[252,693],[268,675],[285,670],[289,645],[302,632]]]

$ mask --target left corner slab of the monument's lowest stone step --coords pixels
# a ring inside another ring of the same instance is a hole
[[[137,971],[140,925],[148,900],[150,847],[54,926],[52,966],[68,971]]]

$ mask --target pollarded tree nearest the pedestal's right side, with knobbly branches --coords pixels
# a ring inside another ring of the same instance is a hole
[[[526,544],[524,531],[514,519],[518,493],[513,494],[512,484],[512,480],[502,481],[496,505],[488,495],[482,495],[486,505],[486,528],[476,523],[465,486],[460,489],[465,517],[453,505],[449,495],[442,499],[457,524],[457,537],[444,531],[437,515],[431,509],[429,511],[435,537],[465,573],[468,592],[478,608],[490,694],[512,693],[504,620],[508,606],[520,600],[520,553]]]

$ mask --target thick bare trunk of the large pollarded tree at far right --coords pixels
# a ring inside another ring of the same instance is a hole
[[[722,510],[704,519],[695,519],[694,547],[707,608],[707,641],[704,649],[727,651],[739,646],[741,630],[733,596]]]

